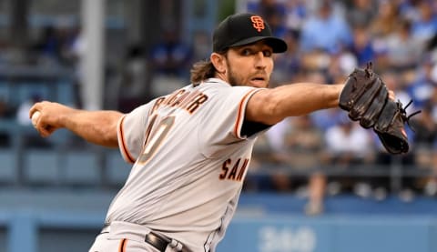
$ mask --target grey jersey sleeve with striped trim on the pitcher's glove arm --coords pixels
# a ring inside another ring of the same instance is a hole
[[[214,156],[223,146],[230,147],[236,142],[258,136],[244,135],[242,126],[249,98],[259,90],[249,86],[233,86],[223,88],[213,96],[198,136],[205,156]]]

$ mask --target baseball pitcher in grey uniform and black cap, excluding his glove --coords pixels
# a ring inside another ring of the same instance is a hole
[[[48,101],[30,109],[41,136],[66,128],[118,147],[132,163],[90,252],[216,250],[259,134],[287,116],[339,106],[343,84],[268,88],[273,55],[286,50],[259,15],[230,15],[214,31],[209,59],[193,66],[191,84],[168,96],[128,114]],[[375,102],[393,96],[384,94]]]

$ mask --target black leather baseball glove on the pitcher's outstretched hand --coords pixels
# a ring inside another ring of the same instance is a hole
[[[407,105],[409,106],[411,102]],[[373,128],[382,145],[391,154],[408,152],[405,123],[420,111],[407,116],[400,101],[389,98],[387,86],[371,69],[355,69],[346,80],[340,94],[340,108],[349,112],[353,121],[360,121],[364,128]]]

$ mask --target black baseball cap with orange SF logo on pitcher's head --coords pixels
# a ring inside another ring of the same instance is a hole
[[[287,44],[282,39],[272,36],[269,24],[260,15],[239,13],[229,15],[214,30],[212,50],[222,52],[229,47],[249,45],[265,40],[273,53],[287,51]]]

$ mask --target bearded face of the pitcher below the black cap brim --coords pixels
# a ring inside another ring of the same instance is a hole
[[[232,47],[226,65],[230,85],[267,87],[273,71],[273,51],[263,41]]]

